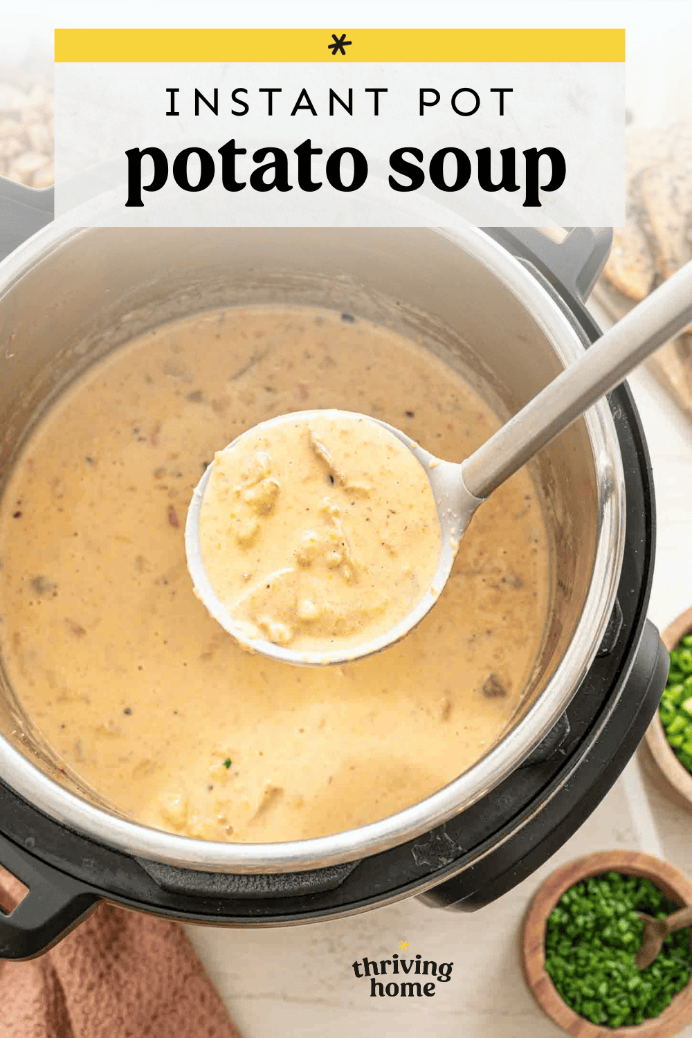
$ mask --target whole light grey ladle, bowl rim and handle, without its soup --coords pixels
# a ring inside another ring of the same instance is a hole
[[[392,432],[424,467],[437,502],[441,534],[441,552],[431,588],[400,623],[383,634],[348,648],[327,646],[321,652],[303,652],[265,638],[248,637],[217,598],[201,558],[199,515],[214,462],[195,488],[185,531],[188,568],[197,595],[221,626],[247,649],[288,663],[343,663],[379,652],[397,641],[422,620],[439,598],[449,577],[459,542],[478,506],[558,433],[621,382],[658,346],[684,328],[691,318],[692,263],[639,303],[461,465],[435,458],[400,430],[379,418],[369,419],[379,421]],[[507,334],[511,334],[510,329],[507,329]],[[520,345],[517,350],[517,362],[521,363]],[[309,417],[315,413],[324,412],[280,415],[264,425]]]

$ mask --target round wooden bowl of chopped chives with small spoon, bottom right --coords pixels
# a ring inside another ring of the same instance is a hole
[[[692,1021],[692,982],[688,983],[660,1016],[633,1028],[596,1026],[575,1013],[558,994],[546,973],[546,922],[558,900],[570,886],[589,876],[619,872],[642,876],[671,901],[692,903],[692,882],[667,862],[635,851],[613,850],[587,854],[558,869],[536,891],[529,905],[521,933],[521,959],[531,994],[543,1011],[574,1038],[672,1038]]]

